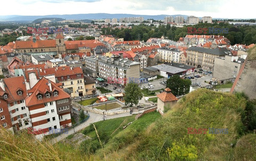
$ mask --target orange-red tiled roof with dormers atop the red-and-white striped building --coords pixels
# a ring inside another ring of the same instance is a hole
[[[49,98],[45,97],[45,95],[44,95],[45,89],[50,91],[50,87],[48,85],[49,82],[51,82],[52,90],[55,89],[58,91],[58,96],[53,97],[53,94],[51,94],[51,96]],[[62,88],[58,87],[56,83],[54,83],[44,77],[41,78],[35,84],[35,86],[33,88],[31,88],[31,90],[29,90],[29,91],[30,92],[33,91],[33,93],[29,97],[26,98],[26,106],[34,106],[34,105],[38,105],[38,104],[47,103],[49,101],[70,98],[70,96],[65,91],[63,91]],[[39,94],[39,93],[43,94],[42,99],[37,99],[37,94]]]

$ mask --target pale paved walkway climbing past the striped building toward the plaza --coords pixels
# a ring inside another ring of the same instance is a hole
[[[74,107],[76,110],[78,110],[76,107]],[[53,138],[52,139],[52,143],[56,143],[56,142],[59,142],[65,138],[68,137],[68,135],[70,134],[73,134],[74,131],[77,132],[79,130],[82,130],[84,128],[86,128],[87,126],[89,126],[91,123],[94,123],[94,122],[99,122],[99,121],[102,121],[103,120],[103,115],[102,114],[96,114],[96,113],[92,113],[92,112],[89,112],[90,114],[90,117],[88,120],[86,120],[84,123],[82,123],[81,125],[78,125],[76,126],[75,128],[73,129],[69,129],[68,133],[62,133],[61,135],[59,135],[58,137],[56,138]],[[122,114],[116,114],[116,115],[107,115],[105,117],[105,120],[109,120],[109,119],[112,119],[112,118],[118,118],[118,117],[125,117],[125,116],[131,116],[130,112],[126,112],[126,113],[122,113]]]

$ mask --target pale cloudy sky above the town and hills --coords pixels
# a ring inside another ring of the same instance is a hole
[[[256,18],[255,5],[253,0],[3,0],[0,16],[126,13],[251,19]]]

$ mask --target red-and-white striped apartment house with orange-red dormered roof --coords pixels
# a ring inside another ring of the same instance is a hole
[[[46,78],[41,78],[28,90],[26,108],[29,109],[36,138],[71,126],[71,99],[62,88]],[[56,132],[55,132],[56,133]]]

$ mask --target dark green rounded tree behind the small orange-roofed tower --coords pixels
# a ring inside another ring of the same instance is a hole
[[[166,82],[166,87],[172,90],[172,94],[175,96],[185,95],[189,92],[189,86],[191,81],[189,79],[181,79],[180,75],[173,75]]]

